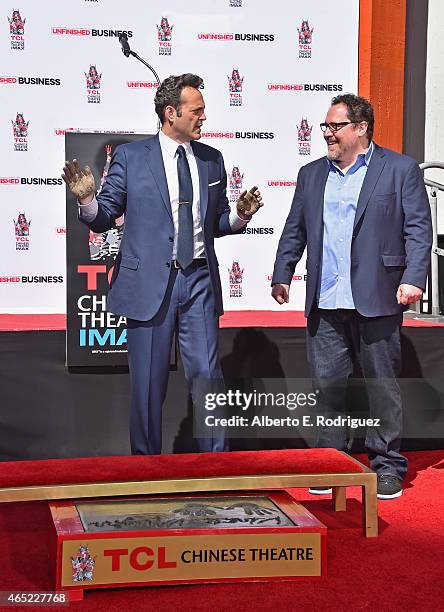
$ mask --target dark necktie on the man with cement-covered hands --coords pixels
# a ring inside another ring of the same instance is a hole
[[[179,176],[179,232],[176,260],[185,270],[194,259],[193,235],[193,183],[185,149],[177,147],[177,174]]]

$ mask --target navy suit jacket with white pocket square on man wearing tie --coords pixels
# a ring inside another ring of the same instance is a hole
[[[214,238],[233,234],[226,197],[227,176],[221,153],[192,142],[200,183],[205,252],[216,309],[223,312]],[[174,225],[159,137],[118,147],[111,161],[93,232],[113,227],[125,213],[125,227],[108,293],[114,314],[149,321],[160,308],[168,285]]]

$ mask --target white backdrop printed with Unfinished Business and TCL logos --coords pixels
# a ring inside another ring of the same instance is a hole
[[[10,26],[17,10],[21,21]],[[154,78],[124,57],[110,35],[117,30],[128,32],[131,47],[161,79],[203,77],[203,142],[222,151],[229,175],[239,168],[243,188],[258,185],[266,203],[250,224],[254,233],[217,241],[225,309],[278,308],[270,277],[298,169],[325,153],[319,123],[331,98],[357,91],[359,1],[7,0],[1,12],[0,311],[66,310],[65,188],[58,179],[64,131],[156,128]],[[163,17],[170,41],[159,41]],[[312,32],[301,45],[303,21]],[[101,77],[89,95],[100,102],[88,101],[91,65]],[[231,105],[234,69],[243,80]],[[18,113],[27,128],[17,125]],[[305,140],[298,137],[303,118],[313,126]],[[21,213],[24,236],[14,225]],[[228,273],[233,262],[243,271],[236,286]],[[304,273],[301,261],[285,308],[303,308]]]

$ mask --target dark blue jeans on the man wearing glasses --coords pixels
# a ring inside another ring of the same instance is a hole
[[[318,389],[318,414],[326,418],[345,415],[347,381],[357,360],[365,379],[369,418],[380,419],[367,427],[365,446],[370,467],[378,474],[404,478],[407,459],[400,454],[402,431],[401,393],[396,377],[401,367],[402,314],[363,317],[356,310],[313,309],[307,322],[307,356],[313,383]],[[347,427],[318,428],[320,448],[347,448]]]

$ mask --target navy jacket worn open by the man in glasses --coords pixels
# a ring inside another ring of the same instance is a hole
[[[329,164],[322,157],[301,168],[276,255],[272,284],[289,285],[307,247],[305,315],[319,298],[324,190]],[[359,195],[351,246],[351,288],[366,317],[405,310],[401,283],[425,288],[432,245],[430,206],[415,160],[375,144]]]

